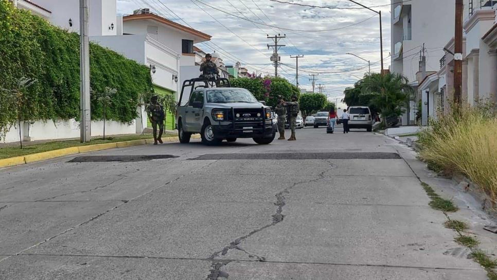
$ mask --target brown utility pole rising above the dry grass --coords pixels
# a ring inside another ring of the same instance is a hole
[[[463,91],[463,0],[456,0],[455,5],[454,104],[459,108]]]

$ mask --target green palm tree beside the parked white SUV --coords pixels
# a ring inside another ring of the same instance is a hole
[[[366,74],[361,83],[362,93],[371,94],[370,106],[378,108],[387,119],[398,118],[405,112],[406,104],[412,99],[413,88],[406,77],[393,73]]]

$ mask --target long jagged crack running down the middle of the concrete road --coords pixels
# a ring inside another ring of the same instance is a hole
[[[266,225],[262,226],[261,228],[253,230],[249,234],[246,234],[246,235],[244,235],[242,237],[239,237],[239,238],[235,239],[234,241],[230,242],[222,250],[212,253],[212,255],[210,255],[210,257],[208,258],[208,260],[211,260],[212,264],[211,264],[210,270],[209,270],[210,273],[209,273],[209,275],[207,275],[206,280],[218,280],[219,277],[228,278],[228,276],[229,276],[228,273],[225,272],[225,271],[222,271],[221,268],[224,267],[224,266],[226,266],[227,264],[231,263],[234,260],[227,260],[227,259],[219,260],[219,259],[216,259],[216,257],[220,257],[219,254],[221,254],[222,256],[224,256],[224,255],[226,255],[228,253],[229,250],[232,250],[232,249],[233,250],[242,251],[245,254],[249,255],[249,257],[256,257],[257,261],[266,261],[265,257],[261,257],[261,256],[258,256],[256,254],[251,254],[251,253],[245,251],[243,248],[241,248],[239,246],[239,244],[243,240],[251,237],[252,235],[254,235],[254,234],[256,234],[256,233],[258,233],[260,231],[263,231],[265,229],[268,229],[271,226],[274,226],[274,225],[282,222],[283,219],[285,218],[285,215],[282,214],[283,213],[283,206],[286,205],[285,195],[286,194],[290,194],[290,190],[292,188],[294,188],[295,186],[299,185],[299,184],[310,183],[310,182],[317,182],[317,181],[319,181],[321,179],[324,179],[326,172],[330,171],[333,168],[336,168],[336,166],[333,163],[329,162],[328,160],[326,160],[326,162],[330,165],[330,168],[324,170],[323,172],[321,172],[319,174],[317,174],[317,177],[315,179],[305,180],[305,181],[300,181],[300,182],[295,182],[295,183],[293,183],[293,185],[291,185],[289,187],[286,187],[285,189],[283,189],[282,191],[280,191],[279,193],[277,193],[275,195],[276,202],[274,202],[273,204],[275,206],[278,206],[278,207],[276,208],[276,213],[273,214],[273,215],[271,215],[271,217],[273,218],[273,222],[272,223],[266,224]]]

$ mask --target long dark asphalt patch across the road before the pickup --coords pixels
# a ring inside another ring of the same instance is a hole
[[[396,160],[398,153],[327,152],[327,153],[217,153],[204,154],[192,161],[206,160]]]

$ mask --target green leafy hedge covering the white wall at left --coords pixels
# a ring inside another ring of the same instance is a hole
[[[79,36],[50,25],[41,17],[0,0],[0,130],[21,120],[79,119]],[[117,89],[107,119],[131,122],[138,96],[153,91],[149,68],[90,44],[90,83],[95,92]],[[36,79],[22,89],[17,80]],[[17,111],[17,108],[20,108]],[[6,110],[7,109],[7,110]],[[103,119],[103,108],[92,96],[92,119]]]

